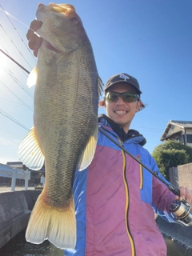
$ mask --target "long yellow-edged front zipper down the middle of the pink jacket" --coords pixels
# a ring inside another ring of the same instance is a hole
[[[123,142],[120,139],[118,139],[118,141],[123,146]],[[128,182],[126,179],[126,154],[123,150],[122,150],[122,158],[123,158],[122,175],[123,175],[123,181],[124,181],[125,190],[126,190],[126,209],[125,209],[126,232],[127,232],[128,238],[130,239],[130,248],[131,248],[130,255],[136,256],[134,239],[133,239],[132,235],[130,234],[130,229],[129,229],[129,225],[128,225],[128,212],[129,212],[129,204],[130,204],[129,199],[130,198],[129,198],[129,186],[128,186]]]

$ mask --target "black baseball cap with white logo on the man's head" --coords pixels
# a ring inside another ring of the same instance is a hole
[[[140,90],[138,80],[134,77],[132,77],[130,74],[121,73],[121,74],[115,74],[111,78],[108,79],[105,86],[105,91],[109,90],[111,86],[114,86],[118,82],[125,82],[131,86],[134,86],[134,88],[137,90],[138,94],[142,94],[142,91]]]

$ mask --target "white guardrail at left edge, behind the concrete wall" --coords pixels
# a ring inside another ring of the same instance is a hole
[[[29,170],[22,170],[13,168],[11,166],[6,166],[0,163],[0,176],[6,177],[6,178],[12,178],[11,179],[11,190],[15,190],[16,186],[16,179],[24,179],[25,181],[25,190],[28,189],[28,181],[30,180],[30,171]]]

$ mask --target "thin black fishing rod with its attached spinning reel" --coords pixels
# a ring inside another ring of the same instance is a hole
[[[165,184],[168,189],[173,192],[175,195],[178,195],[178,200],[174,200],[174,202],[171,202],[170,204],[170,214],[174,218],[176,222],[179,222],[183,226],[192,226],[192,207],[190,206],[190,203],[186,201],[185,198],[180,197],[180,190],[173,186],[172,184],[166,182],[163,178],[158,176],[158,172],[154,170],[150,170],[145,164],[143,164],[138,158],[135,158],[133,154],[130,154],[129,151],[127,151],[121,144],[116,142],[113,138],[111,138],[106,132],[102,129],[102,127],[98,127],[98,130],[106,136],[106,138],[109,138],[110,141],[114,142],[115,145],[117,145],[121,150],[126,152],[131,158],[134,158],[136,162],[138,162],[140,165],[142,165],[146,170],[148,170],[151,174],[154,175],[154,177],[158,178],[163,184]]]

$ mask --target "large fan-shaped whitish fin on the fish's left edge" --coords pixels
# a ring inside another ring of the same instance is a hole
[[[44,156],[38,144],[34,127],[26,134],[18,147],[18,158],[32,170],[40,170],[44,164]]]

